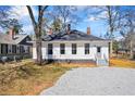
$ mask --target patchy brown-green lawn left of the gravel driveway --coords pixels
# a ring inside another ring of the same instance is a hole
[[[30,61],[0,64],[0,94],[39,94],[69,70],[58,64],[38,66]]]

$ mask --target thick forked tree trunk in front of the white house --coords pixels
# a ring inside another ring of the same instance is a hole
[[[41,29],[42,29],[42,20],[44,14],[48,5],[38,5],[38,20],[36,22],[36,17],[34,16],[32,7],[27,5],[27,10],[33,23],[34,33],[36,36],[36,52],[37,52],[37,64],[41,65],[42,63],[42,53],[41,53]]]

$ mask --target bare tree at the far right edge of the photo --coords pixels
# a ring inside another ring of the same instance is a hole
[[[124,37],[124,47],[130,49],[130,58],[133,59],[133,50],[135,47],[135,9],[128,7],[121,11],[119,28],[120,34]]]

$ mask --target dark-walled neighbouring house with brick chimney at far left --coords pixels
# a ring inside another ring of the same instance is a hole
[[[30,40],[28,35],[15,35],[12,29],[9,30],[9,34],[0,34],[0,60],[30,56],[32,43],[28,42]]]

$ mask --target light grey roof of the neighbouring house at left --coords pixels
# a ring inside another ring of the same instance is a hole
[[[20,34],[15,35],[14,39],[10,38],[10,35],[7,34],[0,34],[0,43],[11,43],[11,45],[17,45],[20,43],[27,35],[25,34]]]

